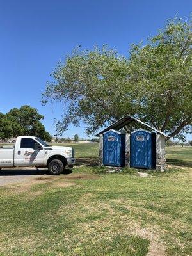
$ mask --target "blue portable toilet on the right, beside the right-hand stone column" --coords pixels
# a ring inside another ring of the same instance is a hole
[[[131,133],[132,168],[156,168],[156,133],[139,129]]]

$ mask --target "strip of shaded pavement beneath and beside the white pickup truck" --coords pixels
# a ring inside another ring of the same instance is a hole
[[[71,170],[65,170],[63,174],[70,174]],[[13,168],[0,170],[0,186],[13,183],[26,183],[38,177],[49,177],[47,169]]]

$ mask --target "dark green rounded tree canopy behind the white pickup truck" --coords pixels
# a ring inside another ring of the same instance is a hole
[[[37,136],[43,140],[51,141],[51,135],[45,131],[42,124],[44,119],[35,108],[25,105],[21,108],[13,108],[5,115],[0,113],[0,138],[17,136]]]

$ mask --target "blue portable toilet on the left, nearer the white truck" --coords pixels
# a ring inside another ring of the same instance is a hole
[[[103,134],[103,165],[125,166],[125,134],[113,129]]]

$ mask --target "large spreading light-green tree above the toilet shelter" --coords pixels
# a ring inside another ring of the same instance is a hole
[[[129,58],[107,47],[72,52],[43,95],[68,106],[58,132],[83,120],[93,134],[128,113],[183,140],[192,123],[191,28],[191,19],[169,20],[148,44],[131,45]]]

